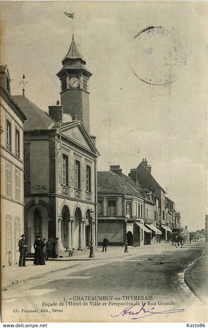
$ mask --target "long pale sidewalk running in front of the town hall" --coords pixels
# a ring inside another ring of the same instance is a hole
[[[171,247],[168,243],[145,245],[142,247],[128,247],[128,253],[124,253],[125,248],[122,247],[108,247],[107,252],[102,252],[102,247],[94,250],[94,257],[89,258],[90,250],[88,252],[76,252],[73,257],[63,257],[58,259],[51,259],[46,261],[46,265],[33,265],[33,261],[26,261],[27,267],[18,267],[18,264],[2,268],[2,290],[7,287],[21,282],[25,282],[37,277],[44,276],[51,272],[56,272],[64,269],[70,269],[81,265],[82,261],[92,260],[106,260],[112,258],[122,258],[133,255],[158,254],[163,250],[168,250]]]

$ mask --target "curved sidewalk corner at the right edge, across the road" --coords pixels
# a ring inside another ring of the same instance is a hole
[[[202,302],[207,300],[207,251],[185,272],[184,280]]]

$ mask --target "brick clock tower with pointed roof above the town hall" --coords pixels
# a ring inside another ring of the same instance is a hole
[[[90,134],[90,108],[88,81],[92,76],[86,61],[80,55],[74,38],[68,53],[62,60],[62,69],[56,74],[61,81],[61,105],[63,112],[76,115]]]

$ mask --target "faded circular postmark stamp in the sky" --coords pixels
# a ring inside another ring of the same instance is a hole
[[[187,57],[174,28],[149,26],[134,37],[130,65],[141,81],[165,85],[177,78]]]

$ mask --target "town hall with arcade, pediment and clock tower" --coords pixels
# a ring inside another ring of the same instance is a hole
[[[90,136],[88,80],[74,40],[57,74],[61,104],[49,114],[25,94],[14,96],[28,115],[24,125],[25,233],[29,252],[37,235],[59,237],[59,251],[97,243],[97,156]],[[93,219],[90,210],[94,211]]]

